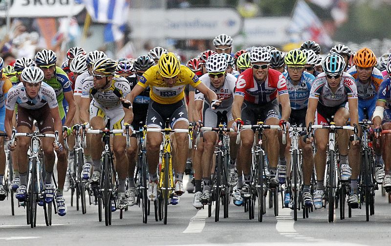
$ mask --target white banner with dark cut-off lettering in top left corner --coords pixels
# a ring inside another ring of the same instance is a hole
[[[75,16],[84,9],[84,4],[75,0],[0,0],[0,18],[18,17],[67,17]]]

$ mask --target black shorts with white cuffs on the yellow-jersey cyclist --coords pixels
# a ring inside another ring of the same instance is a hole
[[[147,126],[164,128],[167,118],[170,120],[171,128],[174,128],[178,121],[189,123],[185,101],[161,104],[151,100],[148,105]]]

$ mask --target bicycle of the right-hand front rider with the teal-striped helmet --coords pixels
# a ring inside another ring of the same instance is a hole
[[[357,134],[357,126],[340,126],[330,122],[330,125],[312,125],[310,123],[308,132],[312,135],[313,129],[328,129],[328,147],[327,147],[327,161],[326,161],[326,182],[325,188],[327,190],[326,203],[328,205],[328,222],[334,221],[334,199],[338,188],[338,182],[341,180],[340,172],[337,165],[337,156],[335,148],[335,135],[337,130],[352,130]]]

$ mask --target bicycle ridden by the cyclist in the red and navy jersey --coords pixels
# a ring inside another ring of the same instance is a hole
[[[262,222],[263,214],[266,213],[266,195],[270,190],[273,196],[274,215],[278,216],[278,194],[280,192],[279,187],[270,188],[265,172],[265,151],[262,149],[262,136],[264,129],[280,129],[279,125],[266,125],[263,122],[257,122],[255,125],[243,125],[238,127],[238,137],[236,143],[240,141],[240,129],[252,129],[256,130],[258,134],[257,142],[253,151],[253,165],[252,165],[252,177],[250,182],[250,198],[248,199],[248,213],[249,219],[254,219],[255,200],[258,198],[258,221]]]

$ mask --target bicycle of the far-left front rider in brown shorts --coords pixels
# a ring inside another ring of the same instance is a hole
[[[29,174],[27,180],[27,197],[24,201],[26,208],[26,217],[27,224],[34,228],[37,222],[37,203],[43,204],[45,223],[47,226],[52,224],[52,205],[54,207],[54,211],[56,212],[55,200],[53,199],[52,203],[46,204],[43,201],[44,194],[44,185],[43,185],[43,150],[41,148],[41,139],[43,137],[54,138],[55,143],[59,144],[59,135],[58,131],[55,131],[54,134],[49,133],[40,133],[39,131],[33,131],[31,133],[22,133],[16,132],[15,129],[12,130],[11,135],[11,144],[14,144],[15,137],[31,137],[30,140],[30,154],[28,156],[28,164],[29,164]],[[56,181],[53,181],[56,185]],[[57,186],[57,185],[56,185]]]

